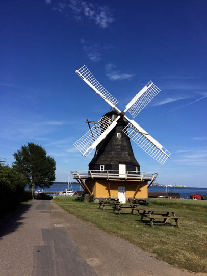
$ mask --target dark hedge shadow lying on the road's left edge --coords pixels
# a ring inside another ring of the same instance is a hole
[[[0,223],[0,240],[2,237],[15,232],[23,224],[22,220],[25,218],[23,215],[28,212],[31,206],[32,203],[21,204],[16,211]]]

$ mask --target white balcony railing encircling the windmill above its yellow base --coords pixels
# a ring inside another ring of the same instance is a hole
[[[125,179],[125,180],[147,180],[154,181],[158,173],[126,171],[119,173],[118,170],[81,170],[71,171],[74,179],[105,178],[105,179]]]

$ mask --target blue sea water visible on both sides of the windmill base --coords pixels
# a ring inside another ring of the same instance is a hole
[[[68,188],[67,184],[53,184],[50,188],[44,189],[44,192],[57,192],[63,191]],[[69,185],[69,190],[82,191],[83,189],[79,184]],[[193,187],[152,187],[150,186],[148,189],[149,192],[171,192],[171,193],[179,193],[180,197],[185,199],[190,199],[189,195],[192,193],[198,193],[201,195],[207,195],[207,188],[193,188]]]

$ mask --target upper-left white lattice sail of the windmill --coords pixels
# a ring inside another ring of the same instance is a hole
[[[97,94],[99,94],[105,101],[112,107],[115,107],[118,104],[117,99],[112,96],[109,91],[107,91],[92,75],[89,69],[84,65],[79,70],[76,70],[77,73]]]

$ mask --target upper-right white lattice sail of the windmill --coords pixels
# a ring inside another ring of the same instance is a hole
[[[155,97],[161,90],[152,82],[148,82],[135,97],[126,105],[126,110],[135,118],[139,112]]]

